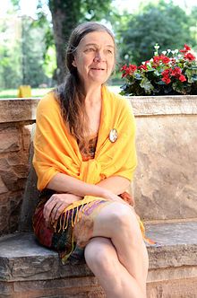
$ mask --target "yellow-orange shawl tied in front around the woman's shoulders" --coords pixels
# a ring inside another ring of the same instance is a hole
[[[109,132],[113,128],[118,133],[115,143],[109,140]],[[33,165],[38,175],[39,190],[46,188],[47,183],[58,172],[92,184],[110,176],[132,180],[137,163],[134,135],[135,122],[131,104],[122,96],[109,92],[107,87],[102,87],[101,120],[95,158],[83,162],[77,141],[64,125],[54,93],[48,93],[39,101],[34,138]]]

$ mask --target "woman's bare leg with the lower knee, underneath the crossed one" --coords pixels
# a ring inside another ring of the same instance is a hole
[[[107,298],[143,297],[135,279],[117,258],[116,249],[109,239],[92,238],[85,248],[85,259]]]

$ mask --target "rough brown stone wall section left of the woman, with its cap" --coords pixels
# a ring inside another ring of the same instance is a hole
[[[38,100],[0,100],[0,235],[18,228]]]

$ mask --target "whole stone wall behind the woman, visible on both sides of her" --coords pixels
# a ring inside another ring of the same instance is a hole
[[[147,221],[197,217],[197,96],[129,101],[137,124],[137,213]],[[0,100],[0,234],[18,228],[38,102]]]

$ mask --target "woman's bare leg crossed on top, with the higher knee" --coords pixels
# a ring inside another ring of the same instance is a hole
[[[94,220],[93,237],[109,238],[115,246],[117,258],[136,282],[136,293],[146,296],[148,254],[133,210],[114,202],[103,207]]]

